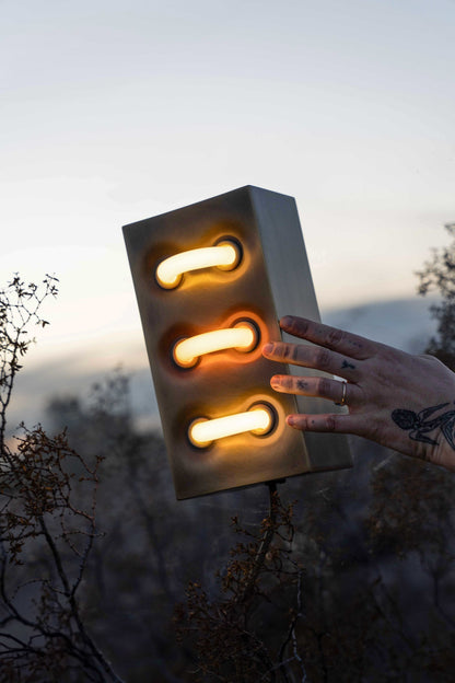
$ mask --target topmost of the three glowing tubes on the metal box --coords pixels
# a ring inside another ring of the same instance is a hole
[[[240,251],[233,242],[220,242],[217,246],[206,246],[175,254],[161,262],[156,268],[156,280],[164,289],[173,289],[179,283],[184,273],[199,268],[218,266],[232,269],[238,264]]]

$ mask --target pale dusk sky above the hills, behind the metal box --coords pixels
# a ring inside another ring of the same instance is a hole
[[[413,296],[455,220],[454,28],[453,0],[0,0],[0,274],[60,278],[40,357],[121,356],[121,225],[248,184],[296,198],[323,312]]]

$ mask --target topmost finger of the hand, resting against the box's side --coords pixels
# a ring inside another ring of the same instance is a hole
[[[280,327],[294,337],[307,339],[313,344],[324,346],[358,360],[371,358],[377,351],[377,347],[382,346],[365,337],[338,329],[338,327],[330,327],[329,325],[315,323],[306,317],[296,317],[295,315],[284,315],[280,320]]]

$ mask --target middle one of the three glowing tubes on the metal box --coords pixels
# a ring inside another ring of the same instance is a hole
[[[205,334],[177,342],[174,347],[174,360],[182,368],[195,366],[200,356],[235,348],[250,351],[258,343],[256,326],[250,323],[238,323],[234,327],[213,329]]]

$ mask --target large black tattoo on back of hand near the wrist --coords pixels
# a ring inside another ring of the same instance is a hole
[[[422,441],[432,445],[438,445],[438,441],[427,435],[435,429],[441,429],[445,440],[455,451],[455,410],[448,409],[438,417],[431,417],[433,413],[448,405],[448,403],[441,403],[440,405],[424,408],[420,413],[399,408],[392,412],[392,419],[400,429],[409,431],[409,438],[413,439],[413,441]]]

